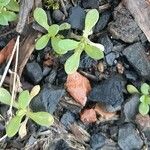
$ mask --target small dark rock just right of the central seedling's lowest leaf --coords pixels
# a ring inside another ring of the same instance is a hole
[[[79,68],[89,69],[96,64],[97,64],[96,60],[92,59],[91,57],[85,54],[81,56]]]

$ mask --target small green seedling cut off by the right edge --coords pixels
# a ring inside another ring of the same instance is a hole
[[[150,86],[147,83],[141,85],[140,91],[133,85],[127,85],[127,91],[130,94],[140,94],[139,112],[142,115],[146,115],[150,110]]]

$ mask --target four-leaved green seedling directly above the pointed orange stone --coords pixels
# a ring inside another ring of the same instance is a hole
[[[88,39],[92,34],[92,28],[99,19],[99,12],[96,9],[90,10],[85,18],[85,28],[80,41],[73,39],[63,39],[59,41],[61,53],[65,54],[70,50],[74,50],[74,54],[70,56],[65,63],[65,71],[67,74],[75,72],[79,67],[80,55],[83,51],[91,58],[99,60],[104,57],[104,46],[98,43],[93,43]]]

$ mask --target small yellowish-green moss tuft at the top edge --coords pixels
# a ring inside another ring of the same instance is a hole
[[[49,9],[59,9],[59,0],[44,0],[44,4]]]

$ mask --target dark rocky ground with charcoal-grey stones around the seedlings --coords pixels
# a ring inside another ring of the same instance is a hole
[[[92,88],[85,107],[76,103],[66,91],[67,75],[63,64],[68,56],[56,57],[50,45],[44,51],[34,51],[21,81],[25,89],[41,85],[42,90],[31,107],[54,114],[55,123],[45,128],[29,122],[27,136],[6,138],[0,143],[0,149],[150,149],[149,115],[138,114],[139,95],[131,96],[126,91],[129,83],[140,87],[142,82],[150,81],[150,43],[130,12],[119,0],[81,0],[66,5],[68,17],[62,8],[47,13],[53,22],[67,21],[72,27],[70,32],[80,33],[86,10],[91,8],[99,9],[101,15],[91,39],[104,45],[105,58],[95,61],[84,54],[81,57],[78,72],[90,81]],[[11,33],[3,35],[10,28]],[[13,28],[14,25],[0,29],[1,49],[16,36]],[[4,67],[5,64],[0,67],[1,74]],[[95,123],[85,123],[86,116],[82,118],[82,113],[92,111],[95,104],[102,104],[107,113],[100,113]],[[7,107],[1,104],[2,116],[6,110]],[[3,121],[0,131],[3,136]]]

